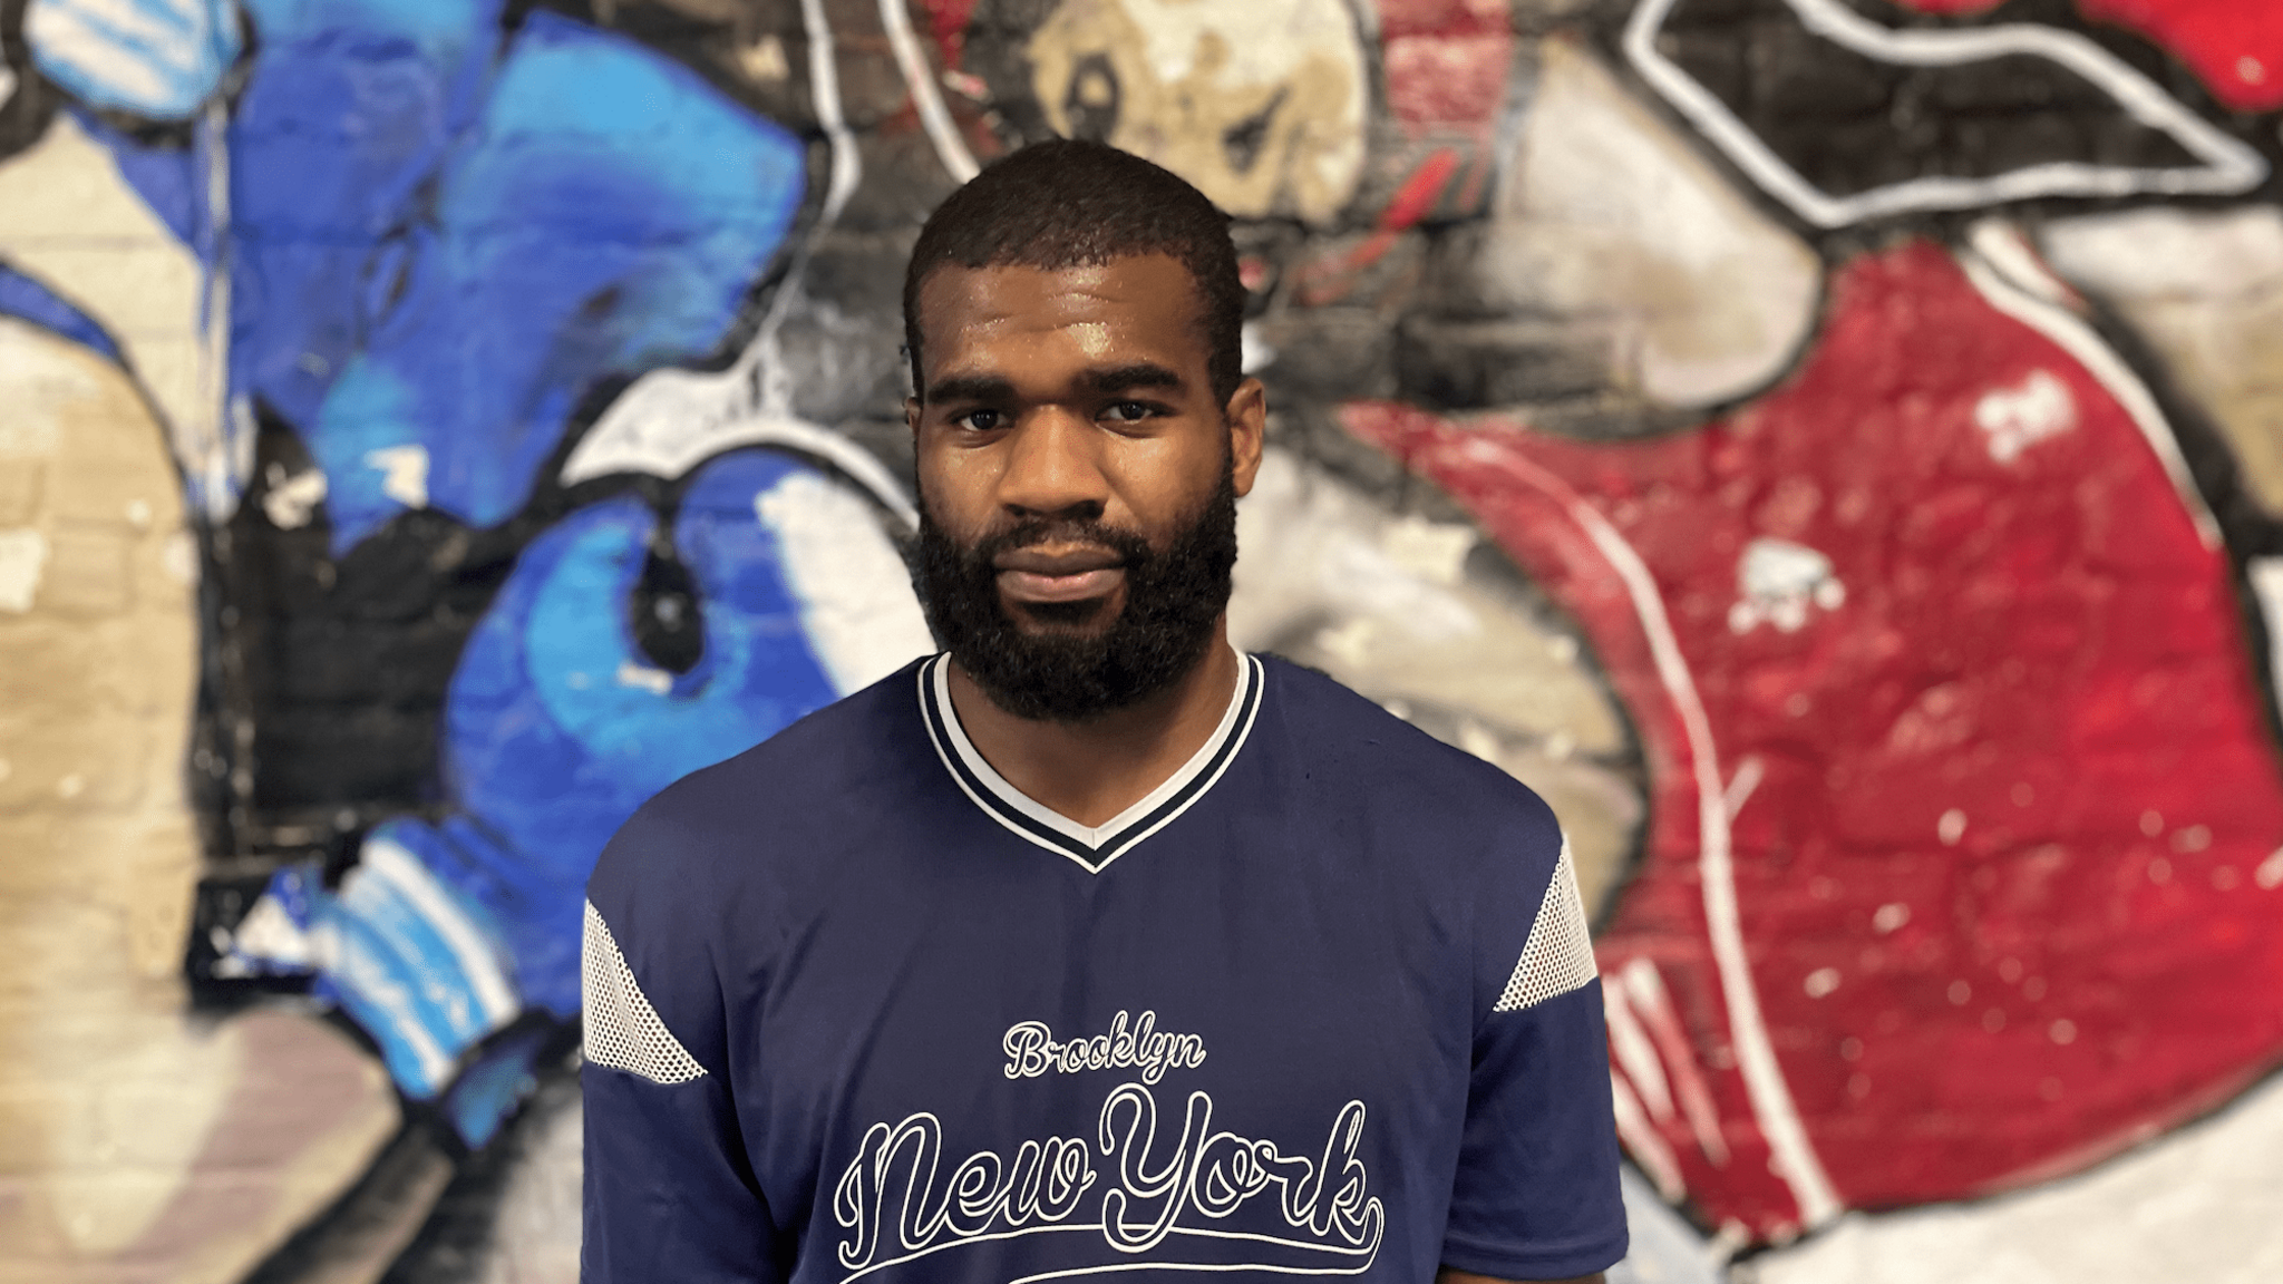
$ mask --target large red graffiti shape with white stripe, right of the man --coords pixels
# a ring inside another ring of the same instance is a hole
[[[2283,1056],[2228,562],[2066,327],[1991,290],[1931,244],[1861,258],[1792,382],[1685,436],[1345,411],[1582,621],[1639,727],[1621,1113],[1712,1222],[2039,1181]]]

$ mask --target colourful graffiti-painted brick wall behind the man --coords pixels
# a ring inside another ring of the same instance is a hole
[[[11,1279],[575,1277],[587,870],[931,649],[1052,135],[1237,219],[1237,640],[1571,832],[1619,1277],[2283,1270],[2283,11],[0,0]]]

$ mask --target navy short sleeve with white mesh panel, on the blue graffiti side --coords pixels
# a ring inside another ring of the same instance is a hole
[[[626,850],[639,827],[612,841],[589,882],[580,950],[580,1284],[776,1284],[781,1236],[726,1081],[692,889]]]

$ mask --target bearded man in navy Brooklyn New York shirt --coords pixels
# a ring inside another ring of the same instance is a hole
[[[1226,217],[1098,144],[904,286],[945,653],[642,809],[587,912],[584,1279],[1587,1277],[1600,985],[1527,788],[1224,635]]]

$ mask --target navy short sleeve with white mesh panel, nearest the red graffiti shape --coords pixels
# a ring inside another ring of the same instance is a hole
[[[1491,1003],[1475,1026],[1443,1266],[1568,1279],[1607,1270],[1628,1245],[1610,1053],[1568,843],[1552,829],[1520,845],[1539,850],[1504,857],[1482,909],[1495,921],[1477,923]]]

